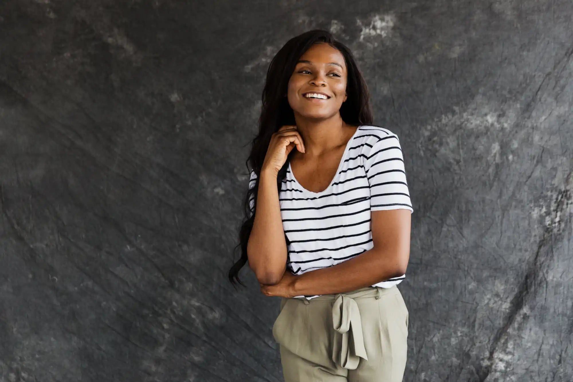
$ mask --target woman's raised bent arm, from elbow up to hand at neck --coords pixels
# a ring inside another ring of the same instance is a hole
[[[247,243],[249,267],[261,284],[278,283],[286,269],[287,248],[277,176],[295,147],[304,153],[303,139],[296,126],[282,126],[272,135],[262,163],[253,229]]]

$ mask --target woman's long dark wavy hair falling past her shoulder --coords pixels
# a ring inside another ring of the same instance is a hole
[[[254,215],[257,205],[257,192],[258,180],[260,176],[262,162],[265,159],[266,150],[269,147],[270,138],[272,134],[285,124],[296,124],[295,114],[288,103],[288,98],[284,96],[288,91],[288,83],[291,79],[292,72],[295,70],[297,61],[313,44],[325,42],[337,49],[344,56],[344,61],[347,68],[347,84],[346,93],[347,99],[340,107],[340,116],[347,124],[360,126],[364,124],[372,124],[372,110],[370,107],[370,93],[366,82],[360,73],[360,69],[356,64],[354,55],[347,48],[346,45],[335,40],[330,32],[327,30],[315,29],[309,30],[299,34],[299,36],[291,38],[282,48],[277,52],[270,61],[268,70],[266,71],[265,87],[262,90],[262,110],[258,119],[258,134],[254,137],[251,143],[251,151],[247,158],[245,165],[247,166],[248,173],[249,164],[257,175],[254,187],[246,188],[246,195],[243,203],[243,212],[245,214],[244,223],[242,223],[239,231],[239,243],[235,247],[240,247],[241,258],[229,270],[229,280],[235,286],[235,279],[245,286],[238,277],[239,271],[247,263],[247,243],[249,235],[253,229]],[[295,150],[291,151],[291,154]],[[286,169],[290,161],[291,155],[286,159],[285,164],[281,170],[278,171],[277,186],[278,190],[281,189],[282,181],[286,175]],[[250,207],[251,198],[254,198],[253,208]],[[285,235],[286,239],[286,235]],[[289,244],[286,239],[287,245]]]

